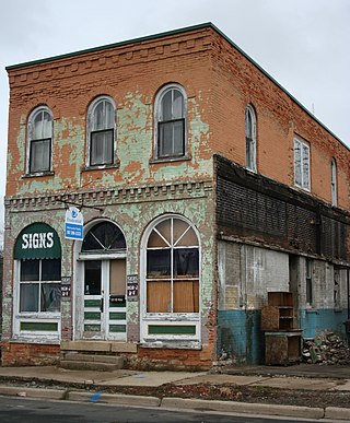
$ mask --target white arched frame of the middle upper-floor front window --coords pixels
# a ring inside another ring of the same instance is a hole
[[[114,110],[114,121],[113,125],[107,126],[106,128],[102,129],[102,131],[113,131],[113,140],[112,140],[112,163],[101,163],[101,164],[91,164],[91,158],[92,158],[92,133],[94,132],[94,113],[96,107],[102,103],[106,102],[109,103],[113,107]],[[89,106],[88,110],[88,119],[86,119],[86,162],[85,162],[85,167],[86,168],[105,168],[108,166],[115,166],[116,164],[116,138],[117,138],[117,109],[116,109],[116,104],[114,99],[107,95],[102,95],[96,97]]]

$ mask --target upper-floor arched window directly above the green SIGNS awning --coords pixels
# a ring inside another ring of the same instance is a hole
[[[46,106],[37,107],[28,119],[27,173],[51,171],[52,113]]]

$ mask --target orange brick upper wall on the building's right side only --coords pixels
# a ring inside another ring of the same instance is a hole
[[[212,47],[214,113],[210,127],[214,151],[245,165],[244,114],[247,104],[252,103],[257,116],[258,173],[293,186],[293,138],[298,134],[311,145],[312,193],[331,202],[330,162],[335,157],[338,205],[349,210],[349,149],[219,34],[214,35]]]

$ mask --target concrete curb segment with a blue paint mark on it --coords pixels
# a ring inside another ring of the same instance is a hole
[[[137,395],[68,391],[66,399],[69,401],[89,401],[119,406],[161,407],[160,398]]]

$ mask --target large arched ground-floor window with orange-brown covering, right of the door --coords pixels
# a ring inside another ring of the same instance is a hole
[[[199,313],[199,244],[191,225],[164,218],[147,242],[147,313]]]

